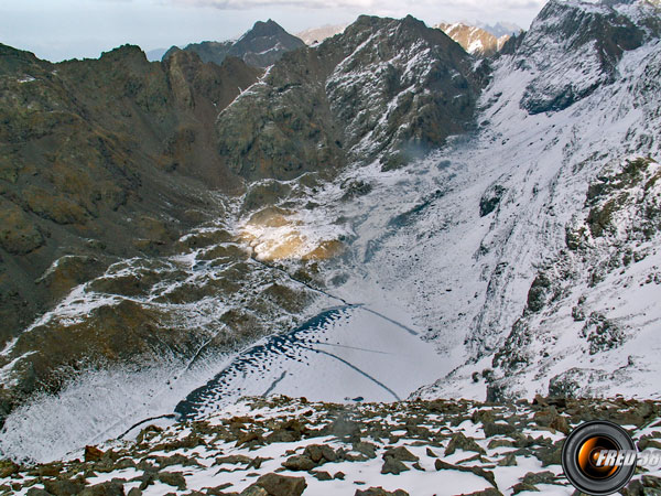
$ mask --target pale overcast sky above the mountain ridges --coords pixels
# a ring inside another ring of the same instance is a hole
[[[149,51],[240,35],[273,19],[291,33],[358,14],[427,25],[467,20],[528,28],[544,0],[0,0],[0,43],[42,58],[98,57],[124,43]]]

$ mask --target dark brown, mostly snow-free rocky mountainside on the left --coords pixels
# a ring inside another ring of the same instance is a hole
[[[215,153],[213,122],[260,71],[236,58],[204,64],[187,53],[149,63],[134,46],[61,64],[1,50],[4,366],[12,346],[35,339],[23,331],[72,289],[122,259],[172,254],[183,234],[223,212],[213,192],[237,191],[240,180]],[[140,320],[138,309],[123,309],[105,325],[106,345],[87,334],[53,348],[63,327],[33,341],[37,354],[23,364],[19,395],[61,365],[144,346],[145,336],[123,335],[127,322]],[[2,382],[6,398],[11,381]],[[12,402],[2,401],[2,417]]]

